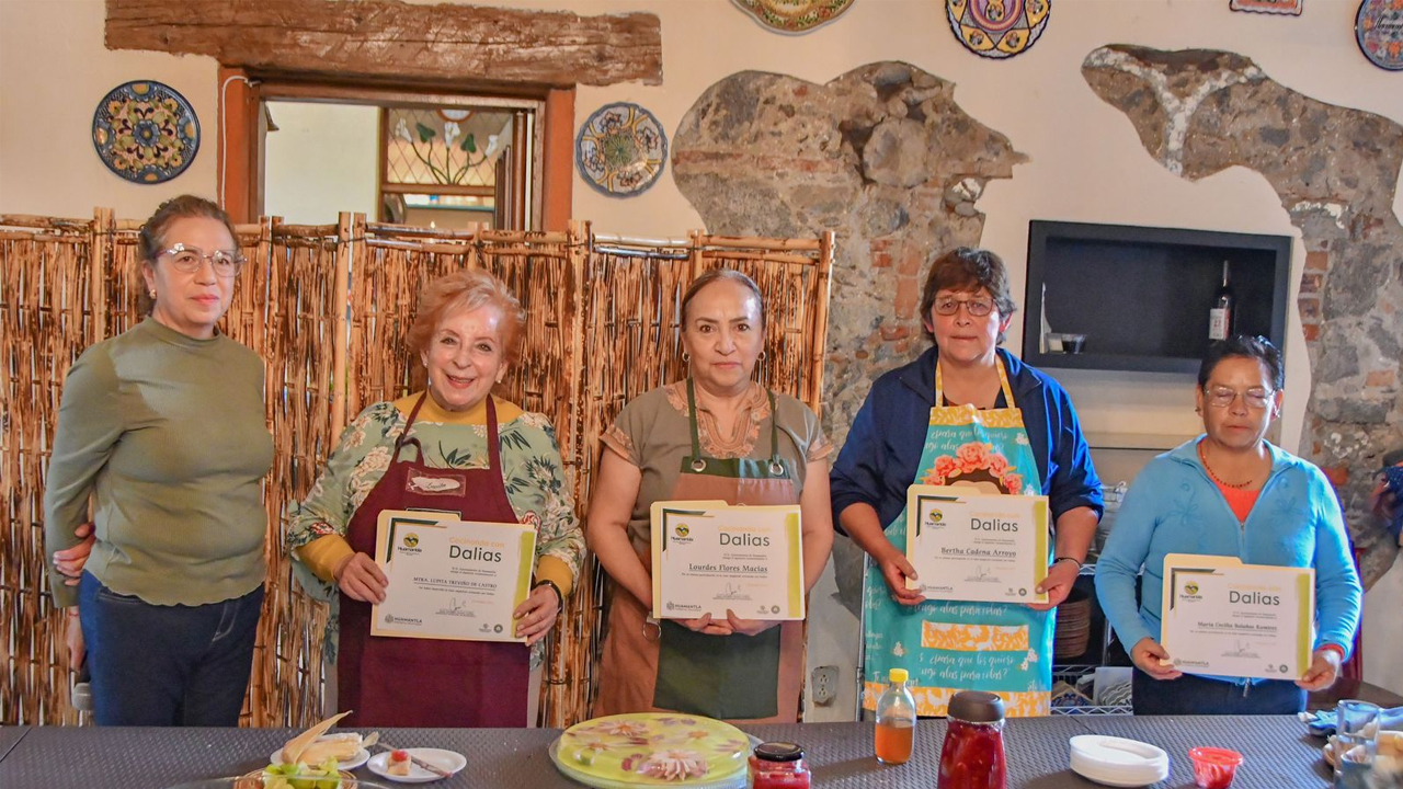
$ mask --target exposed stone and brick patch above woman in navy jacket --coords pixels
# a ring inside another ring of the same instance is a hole
[[[672,174],[707,230],[833,229],[824,427],[842,445],[873,379],[929,347],[932,253],[979,243],[975,201],[1023,161],[954,102],[954,84],[871,63],[828,84],[741,72],[702,94],[673,138]]]

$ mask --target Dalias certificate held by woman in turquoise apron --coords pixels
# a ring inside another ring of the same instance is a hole
[[[1048,500],[972,487],[906,489],[906,585],[927,599],[1047,602]]]

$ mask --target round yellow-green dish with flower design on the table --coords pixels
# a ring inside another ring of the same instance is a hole
[[[585,720],[550,745],[556,767],[586,786],[745,786],[751,738],[694,715],[633,713]]]

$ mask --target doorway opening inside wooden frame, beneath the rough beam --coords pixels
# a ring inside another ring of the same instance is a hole
[[[261,81],[255,215],[542,229],[546,101]]]

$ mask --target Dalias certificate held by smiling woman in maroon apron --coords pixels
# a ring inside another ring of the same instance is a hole
[[[389,585],[372,606],[370,635],[523,642],[512,612],[530,592],[536,529],[445,518],[453,517],[380,512],[375,560]]]

